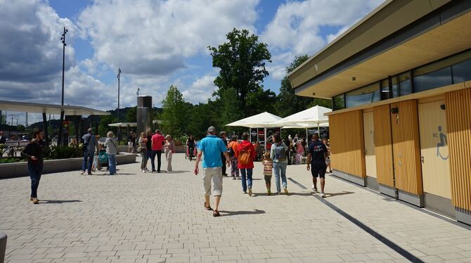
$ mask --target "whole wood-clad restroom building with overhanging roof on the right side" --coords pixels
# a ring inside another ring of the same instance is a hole
[[[288,77],[335,176],[471,224],[471,1],[385,1]]]

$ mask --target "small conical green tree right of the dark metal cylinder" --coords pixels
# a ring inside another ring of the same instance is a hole
[[[164,131],[174,137],[181,136],[188,124],[188,113],[183,95],[175,85],[170,86],[167,91],[162,107],[163,112],[159,117]]]

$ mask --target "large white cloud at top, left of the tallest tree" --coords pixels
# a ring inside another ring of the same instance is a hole
[[[233,27],[254,30],[258,0],[95,1],[79,15],[95,59],[133,75],[169,75],[184,59],[224,41]]]

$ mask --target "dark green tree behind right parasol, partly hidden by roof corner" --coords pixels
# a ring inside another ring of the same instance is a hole
[[[280,94],[277,100],[277,113],[280,117],[286,117],[298,113],[299,111],[306,110],[307,108],[320,105],[327,108],[332,108],[331,100],[323,98],[309,98],[295,95],[295,89],[292,88],[288,73],[295,70],[299,65],[304,63],[309,58],[307,55],[297,56],[295,60],[285,68],[286,76],[281,80]]]

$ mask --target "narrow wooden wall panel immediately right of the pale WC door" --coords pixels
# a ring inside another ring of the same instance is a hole
[[[373,108],[375,155],[378,184],[394,187],[392,166],[391,113],[389,105]]]

